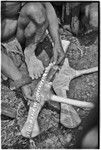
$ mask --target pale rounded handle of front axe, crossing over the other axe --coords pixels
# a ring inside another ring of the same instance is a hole
[[[73,99],[70,99],[70,98],[63,98],[63,97],[56,96],[56,95],[51,95],[50,99],[52,101],[56,101],[56,102],[60,102],[60,103],[66,103],[66,104],[74,105],[74,106],[77,106],[77,107],[86,107],[86,108],[93,108],[94,107],[94,104],[91,103],[91,102],[83,102],[83,101],[79,101],[79,100],[76,100],[76,99],[73,100]]]

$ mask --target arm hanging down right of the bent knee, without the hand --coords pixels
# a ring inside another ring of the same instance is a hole
[[[46,14],[49,23],[49,32],[52,37],[54,44],[61,44],[60,36],[59,36],[59,25],[58,19],[55,13],[53,6],[50,3],[45,3]]]

